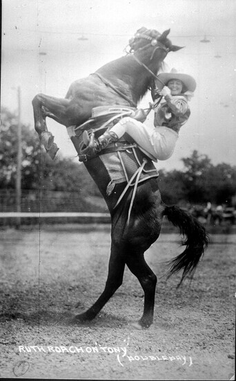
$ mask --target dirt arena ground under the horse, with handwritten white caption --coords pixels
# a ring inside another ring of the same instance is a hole
[[[124,283],[89,324],[64,319],[90,307],[106,283],[110,227],[0,231],[0,375],[4,378],[229,380],[235,364],[236,235],[212,235],[192,283],[164,277],[181,251],[161,233],[146,260],[157,274],[153,326],[137,330],[143,292]],[[75,305],[79,303],[79,307]]]

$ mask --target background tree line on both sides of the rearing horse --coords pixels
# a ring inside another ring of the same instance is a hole
[[[17,173],[17,116],[6,108],[1,112],[0,189],[14,189]],[[166,204],[190,202],[230,203],[236,189],[236,167],[213,166],[210,159],[194,150],[181,159],[184,170],[159,171],[159,187]],[[75,192],[81,200],[101,197],[99,190],[79,163],[63,157],[51,160],[39,137],[29,125],[22,125],[22,188]],[[101,200],[101,198],[100,198]]]

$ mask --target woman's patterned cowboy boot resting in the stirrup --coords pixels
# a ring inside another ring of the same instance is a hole
[[[110,143],[118,139],[115,132],[105,132],[105,134],[99,136],[98,139],[95,139],[94,132],[89,135],[88,131],[83,131],[83,143],[85,147],[81,148],[81,152],[91,157],[97,156],[98,152],[104,150]]]

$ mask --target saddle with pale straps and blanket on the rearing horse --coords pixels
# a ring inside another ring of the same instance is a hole
[[[70,138],[73,136],[77,138],[83,134],[84,130],[94,131],[95,136],[103,134],[107,129],[119,121],[120,118],[130,115],[135,111],[132,107],[119,107],[119,106],[101,106],[92,109],[92,117],[85,123],[79,126],[69,127]],[[72,139],[75,145],[75,139]],[[83,144],[83,142],[81,142]],[[86,162],[94,157],[89,157],[86,154],[81,154],[81,144],[75,145],[79,153],[79,161]],[[115,184],[126,182],[126,187],[119,197],[116,206],[124,197],[128,188],[133,187],[132,201],[135,197],[138,184],[146,181],[152,177],[158,177],[159,173],[155,168],[153,161],[157,161],[149,152],[146,152],[133,141],[128,135],[124,134],[123,138],[115,143],[111,143],[107,148],[98,152],[97,157],[103,161],[110,182],[107,186],[106,193],[111,195]],[[130,211],[132,208],[132,201],[130,202]],[[129,219],[129,217],[128,217]]]

